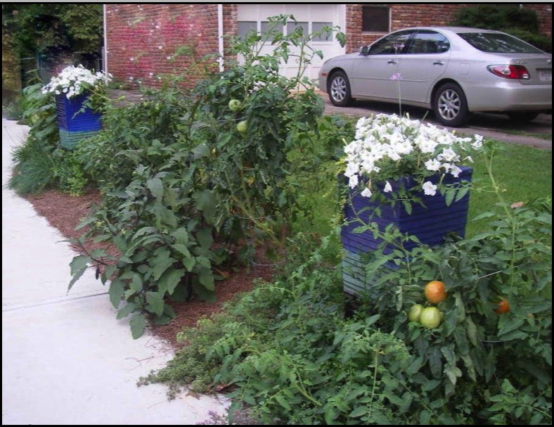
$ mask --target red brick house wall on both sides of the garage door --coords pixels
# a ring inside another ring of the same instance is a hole
[[[361,28],[362,4],[346,4],[346,52],[374,42],[383,33]],[[391,30],[413,25],[447,25],[462,7],[475,4],[390,4]],[[236,4],[223,4],[224,34],[236,34]],[[539,16],[541,30],[552,34],[552,6],[524,4]],[[139,83],[159,87],[163,74],[186,73],[190,87],[201,77],[198,60],[217,70],[219,53],[217,4],[106,4],[108,71],[115,79],[136,87]],[[225,43],[225,49],[228,44]],[[196,58],[196,60],[195,60]],[[188,71],[187,71],[188,70]],[[194,77],[195,76],[195,77]]]

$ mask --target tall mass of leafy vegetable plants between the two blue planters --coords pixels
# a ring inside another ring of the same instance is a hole
[[[281,244],[279,215],[295,204],[285,188],[287,153],[295,134],[316,125],[323,103],[302,77],[311,58],[307,39],[300,32],[284,39],[268,34],[277,44],[273,54],[261,56],[268,39],[250,34],[233,43],[244,65],[206,79],[190,97],[166,87],[136,106],[108,111],[105,131],[79,148],[85,172],[107,196],[85,224],[121,255],[106,258],[110,265],[98,251],[75,257],[70,288],[89,264],[98,275],[104,265],[101,279],[115,274],[110,300],[118,318],[132,314],[134,337],[146,327],[145,312],[167,323],[174,317],[170,302],[212,300],[220,279],[214,267],[252,252],[245,241],[262,234]],[[301,71],[288,79],[277,71],[283,56],[292,57],[291,45],[300,51]],[[293,91],[300,84],[307,89]]]

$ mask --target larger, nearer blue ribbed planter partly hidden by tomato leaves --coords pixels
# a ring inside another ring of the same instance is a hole
[[[462,172],[458,178],[446,175],[443,179],[444,184],[455,184],[460,181],[471,181],[472,168],[462,167]],[[436,184],[440,176],[431,177],[429,181]],[[391,183],[394,190],[399,186],[406,189],[411,188],[416,183],[413,179],[405,178]],[[358,295],[360,291],[366,290],[371,283],[366,283],[367,279],[363,274],[360,257],[363,253],[375,250],[382,243],[382,239],[374,238],[371,231],[363,233],[354,233],[354,230],[361,226],[360,222],[354,221],[360,217],[364,224],[374,222],[378,224],[381,231],[385,230],[389,224],[394,224],[401,233],[416,236],[421,243],[430,246],[437,246],[444,243],[445,236],[450,233],[465,236],[465,224],[468,219],[468,206],[470,195],[467,193],[457,202],[446,205],[444,196],[437,193],[435,196],[420,195],[424,206],[413,203],[412,212],[408,214],[402,203],[396,203],[394,206],[389,204],[380,204],[371,201],[371,198],[360,196],[359,191],[349,191],[349,201],[344,205],[344,216],[347,224],[342,227],[341,241],[344,248],[344,257],[342,260],[342,271],[344,280],[344,291],[352,295]],[[380,215],[375,215],[375,210],[380,209]],[[404,244],[406,249],[416,246],[414,242]],[[388,249],[388,250],[387,250]],[[385,246],[385,253],[392,250]]]

